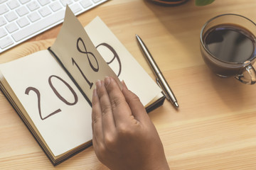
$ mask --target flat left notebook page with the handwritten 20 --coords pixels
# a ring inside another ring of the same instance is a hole
[[[55,156],[92,139],[91,107],[48,50],[0,64],[0,68]],[[40,97],[33,88],[38,89]],[[61,111],[50,115],[58,109]]]

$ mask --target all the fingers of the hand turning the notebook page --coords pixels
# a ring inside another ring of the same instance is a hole
[[[96,82],[92,96],[92,130],[97,145],[112,140],[117,128],[132,125],[137,120],[143,122],[145,118],[149,119],[144,106],[125,84],[121,91],[111,77]]]

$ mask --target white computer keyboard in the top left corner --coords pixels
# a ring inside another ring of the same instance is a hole
[[[107,0],[0,0],[0,53]]]

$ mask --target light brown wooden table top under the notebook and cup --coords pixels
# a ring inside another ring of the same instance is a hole
[[[100,16],[154,78],[135,34],[151,50],[180,105],[176,111],[165,102],[149,113],[172,170],[256,169],[256,85],[216,77],[199,50],[200,30],[209,18],[239,13],[256,22],[255,8],[255,0],[216,0],[203,7],[195,6],[193,0],[176,7],[112,0],[78,16],[83,26]],[[53,44],[60,26],[4,52],[0,62],[46,49]],[[97,160],[93,147],[53,166],[0,94],[0,169],[107,168]]]

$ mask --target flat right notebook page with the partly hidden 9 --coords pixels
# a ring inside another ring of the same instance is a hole
[[[112,31],[107,28],[100,17],[95,18],[85,26],[85,30],[95,47],[99,45],[97,50],[105,61],[110,62],[114,59],[109,64],[110,67],[115,74],[119,74],[120,80],[124,80],[128,89],[139,96],[144,106],[161,93],[159,86],[149,77],[149,74],[132,57]],[[136,43],[135,35],[132,36],[134,36],[134,43]]]

